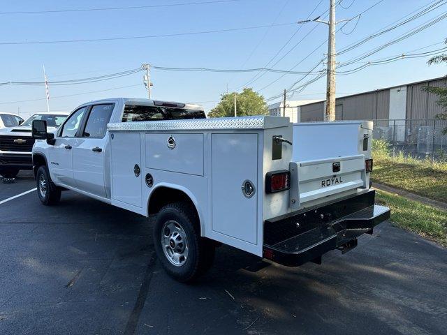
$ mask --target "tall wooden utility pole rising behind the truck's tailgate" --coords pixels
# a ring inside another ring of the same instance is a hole
[[[328,70],[326,75],[326,121],[335,121],[335,0],[330,1]]]

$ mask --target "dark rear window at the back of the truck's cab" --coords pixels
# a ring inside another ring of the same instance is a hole
[[[126,105],[122,122],[184,119],[205,119],[205,112],[175,107]]]

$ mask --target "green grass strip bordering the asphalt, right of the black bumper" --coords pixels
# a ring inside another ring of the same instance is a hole
[[[390,207],[395,225],[447,246],[447,211],[379,190],[376,202]]]

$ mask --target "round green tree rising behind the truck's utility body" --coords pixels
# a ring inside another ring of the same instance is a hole
[[[234,117],[235,96],[238,117],[248,115],[266,115],[268,113],[267,103],[264,97],[253,89],[244,89],[242,93],[226,93],[221,95],[221,101],[208,114],[209,117]]]

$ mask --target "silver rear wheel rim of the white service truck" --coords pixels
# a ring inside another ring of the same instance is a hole
[[[161,246],[169,262],[176,267],[188,259],[189,247],[186,233],[177,221],[166,221],[161,229]]]

